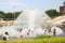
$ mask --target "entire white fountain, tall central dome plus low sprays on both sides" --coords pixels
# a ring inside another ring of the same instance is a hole
[[[10,37],[18,38],[20,29],[23,29],[22,31],[23,38],[34,38],[38,34],[44,34],[46,30],[47,30],[46,34],[49,34],[48,29],[51,29],[52,31],[54,29],[53,26],[52,26],[53,28],[50,27],[49,20],[51,20],[51,18],[42,11],[36,9],[34,10],[26,9],[17,17],[13,26],[5,26],[0,29],[0,35],[8,31]],[[63,33],[63,31],[60,28],[55,27],[55,29],[57,31],[56,32],[57,34]],[[58,32],[58,30],[61,32]]]

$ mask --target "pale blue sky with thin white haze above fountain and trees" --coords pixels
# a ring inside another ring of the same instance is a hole
[[[15,12],[23,9],[57,10],[63,5],[64,0],[0,0],[0,11]]]

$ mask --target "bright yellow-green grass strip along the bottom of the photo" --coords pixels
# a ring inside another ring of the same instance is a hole
[[[0,41],[0,43],[65,43],[65,37],[38,35],[35,39]]]

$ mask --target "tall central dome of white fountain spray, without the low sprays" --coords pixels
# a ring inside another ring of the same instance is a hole
[[[48,25],[48,20],[51,20],[51,18],[39,10],[24,10],[15,20],[14,26],[35,29],[41,26],[46,27]]]

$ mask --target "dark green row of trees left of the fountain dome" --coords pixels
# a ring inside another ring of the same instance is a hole
[[[0,11],[0,16],[2,16],[5,20],[10,20],[10,19],[14,19],[17,18],[17,16],[21,14],[22,12],[9,12],[9,13],[4,13],[2,11]]]

